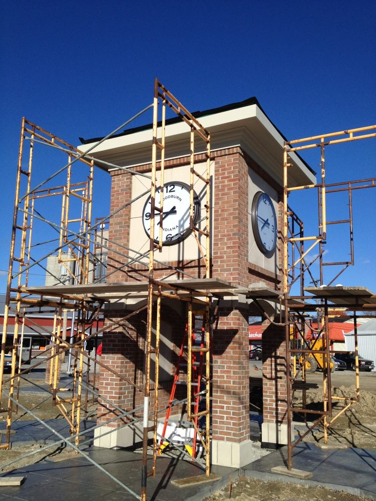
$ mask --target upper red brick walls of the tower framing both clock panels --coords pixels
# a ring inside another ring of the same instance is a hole
[[[248,285],[260,280],[272,287],[276,287],[280,281],[279,274],[273,274],[268,270],[248,263],[248,167],[254,169],[257,174],[267,181],[282,196],[281,187],[243,150],[239,147],[228,148],[212,153],[215,159],[215,210],[212,214],[213,230],[213,268],[212,276],[227,280],[236,285]],[[196,155],[195,161],[204,161],[204,155]],[[165,162],[165,168],[189,166],[189,157],[178,158]],[[141,165],[134,170],[149,172],[150,165]],[[132,175],[124,171],[112,171],[111,188],[111,212],[118,210],[131,198]],[[110,220],[109,239],[118,241],[123,245],[128,244],[130,225],[130,206],[121,209]],[[282,223],[280,221],[280,229]],[[109,244],[110,247],[114,245]],[[281,231],[279,231],[278,246],[281,246]],[[127,249],[118,247],[119,252],[127,254]],[[158,258],[158,256],[156,256]],[[234,265],[234,258],[236,265]],[[281,259],[281,252],[280,252]],[[148,267],[134,263],[130,267],[116,270],[127,259],[109,251],[108,271],[111,273],[107,282],[128,282],[147,280]],[[189,262],[170,262],[166,265],[180,268],[198,278],[205,275],[205,266],[202,260]],[[164,277],[168,271],[162,265],[155,266],[154,277]],[[180,277],[178,274],[176,278]]]

